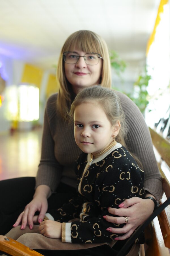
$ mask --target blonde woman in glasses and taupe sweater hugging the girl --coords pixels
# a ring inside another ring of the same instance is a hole
[[[88,53],[96,54],[93,64]],[[71,34],[61,49],[57,81],[59,93],[48,99],[45,110],[42,154],[36,185],[34,178],[1,181],[0,189],[4,195],[3,199],[0,199],[2,234],[8,232],[12,224],[16,227],[21,223],[21,229],[25,229],[28,224],[32,229],[35,212],[39,212],[38,220],[42,222],[47,209],[54,208],[54,205],[59,208],[75,195],[76,177],[73,163],[80,150],[74,141],[73,125],[68,125],[67,113],[75,95],[83,88],[95,84],[111,87],[110,59],[105,41],[88,30]],[[136,105],[124,94],[118,92],[118,95],[129,127],[126,144],[141,160],[145,170],[146,197],[151,196],[153,200],[159,200],[162,195],[162,182],[150,133]],[[11,200],[9,187],[13,195]],[[125,200],[119,207],[120,209],[109,208],[109,212],[120,217],[106,216],[106,220],[109,231],[115,232],[114,228],[109,227],[109,222],[124,223],[123,216],[128,217],[128,223],[123,228],[116,229],[117,233],[124,233],[118,239],[124,240],[153,212],[154,202],[133,197]]]

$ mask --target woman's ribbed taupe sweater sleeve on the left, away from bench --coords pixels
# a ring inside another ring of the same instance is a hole
[[[55,102],[54,102],[55,101]],[[50,97],[44,113],[44,125],[42,134],[41,160],[36,177],[36,187],[47,185],[52,192],[58,187],[61,179],[62,165],[58,163],[54,155],[54,140],[50,130],[50,119],[53,118],[56,109],[56,98]],[[50,113],[50,116],[49,116]],[[35,188],[36,188],[35,187]]]

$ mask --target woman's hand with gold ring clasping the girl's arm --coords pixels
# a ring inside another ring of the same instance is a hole
[[[150,195],[153,197],[153,195]],[[150,199],[141,199],[139,197],[132,197],[126,199],[123,203],[119,205],[119,209],[108,208],[109,213],[118,215],[120,217],[113,217],[106,215],[105,220],[115,224],[125,223],[125,218],[128,217],[128,223],[124,225],[123,228],[111,228],[108,227],[108,231],[116,234],[122,234],[123,236],[118,236],[115,240],[124,240],[131,236],[135,229],[140,226],[153,212],[154,202]]]

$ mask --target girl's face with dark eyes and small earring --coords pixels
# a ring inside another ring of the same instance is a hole
[[[84,102],[75,108],[75,141],[85,153],[97,154],[117,135],[119,125],[111,125],[103,108],[95,102]]]

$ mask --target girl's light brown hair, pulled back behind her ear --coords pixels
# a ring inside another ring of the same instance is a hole
[[[120,121],[121,127],[116,136],[116,141],[123,146],[126,146],[125,139],[128,130],[127,124],[120,99],[114,90],[99,85],[85,88],[77,94],[75,100],[71,104],[70,116],[72,118],[75,108],[84,102],[95,102],[96,104],[99,104],[103,108],[112,126],[114,126],[117,121]]]

